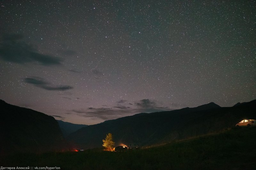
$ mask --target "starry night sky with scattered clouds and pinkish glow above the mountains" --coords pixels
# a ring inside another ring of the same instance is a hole
[[[0,99],[76,124],[256,98],[255,1],[0,1]]]

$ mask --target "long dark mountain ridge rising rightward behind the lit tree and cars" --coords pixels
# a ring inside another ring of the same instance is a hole
[[[80,148],[102,146],[102,139],[112,133],[116,145],[137,142],[140,145],[168,143],[209,132],[219,131],[244,118],[256,118],[256,101],[221,108],[209,103],[195,108],[141,113],[89,125],[70,134],[68,140]]]

